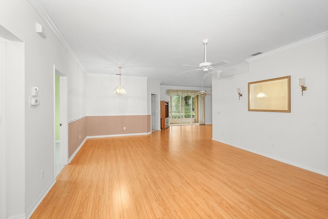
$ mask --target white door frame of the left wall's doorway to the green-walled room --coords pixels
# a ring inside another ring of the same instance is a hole
[[[67,74],[61,71],[57,66],[53,65],[53,80],[54,80],[54,124],[56,122],[56,93],[55,93],[55,76],[59,75],[59,123],[62,124],[60,126],[60,164],[67,165],[68,164],[68,109],[67,109],[67,101],[68,101],[68,84],[67,84]],[[56,139],[56,130],[54,130],[54,140]],[[54,150],[56,141],[54,141]],[[54,156],[56,152],[54,153]],[[54,162],[54,168],[56,170],[56,157]],[[55,171],[56,174],[56,171]]]

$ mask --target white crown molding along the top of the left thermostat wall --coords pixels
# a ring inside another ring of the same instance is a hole
[[[42,18],[42,20],[47,24],[51,32],[55,35],[55,37],[58,39],[59,43],[63,45],[63,47],[66,49],[66,51],[73,57],[74,61],[78,64],[78,66],[86,72],[84,66],[80,63],[78,57],[73,52],[71,47],[66,42],[64,36],[60,33],[58,28],[56,27],[56,24],[52,20],[51,16],[49,15],[47,9],[45,6],[39,1],[39,0],[27,0],[32,8],[36,11],[36,13]]]

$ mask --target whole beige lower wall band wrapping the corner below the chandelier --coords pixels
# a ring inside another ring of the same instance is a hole
[[[151,115],[86,116],[68,124],[68,157],[72,156],[87,136],[149,132]]]

